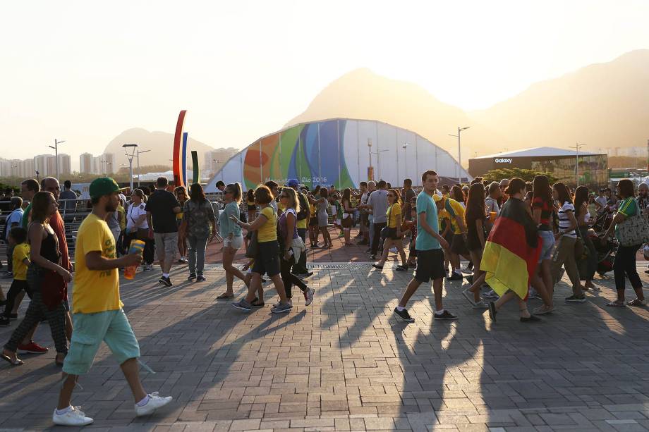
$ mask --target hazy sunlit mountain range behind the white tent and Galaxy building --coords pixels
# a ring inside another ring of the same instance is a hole
[[[367,68],[352,70],[315,96],[287,125],[348,117],[384,121],[418,132],[462,161],[475,155],[529,147],[588,149],[643,146],[649,138],[649,50],[580,68],[489,109],[465,112],[444,104],[420,85],[392,80]]]

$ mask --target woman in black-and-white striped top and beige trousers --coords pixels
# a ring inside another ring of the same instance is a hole
[[[575,228],[577,227],[575,206],[572,204],[568,187],[563,183],[554,183],[552,186],[552,199],[558,201],[561,205],[558,211],[559,233],[554,235],[557,239],[557,246],[554,249],[554,256],[552,257],[552,275],[555,278],[554,282],[558,282],[557,276],[559,275],[559,269],[561,269],[561,266],[564,266],[572,283],[573,292],[573,295],[566,297],[566,302],[583,303],[586,302],[586,297],[583,295],[575,259],[575,243],[577,242],[577,235],[575,233]]]

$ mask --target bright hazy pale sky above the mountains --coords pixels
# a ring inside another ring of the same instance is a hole
[[[127,128],[173,132],[180,109],[195,139],[245,147],[359,67],[471,110],[649,48],[645,0],[13,1],[3,16],[0,156],[58,138],[73,168]]]

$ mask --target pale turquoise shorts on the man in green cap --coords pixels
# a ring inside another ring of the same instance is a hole
[[[106,342],[118,364],[140,357],[140,345],[123,309],[73,314],[74,331],[63,372],[83,375],[90,371],[99,345]]]

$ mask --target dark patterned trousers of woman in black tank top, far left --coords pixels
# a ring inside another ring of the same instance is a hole
[[[68,340],[66,339],[66,307],[63,302],[59,303],[53,310],[49,310],[43,303],[40,290],[34,290],[25,318],[11,334],[9,342],[4,347],[11,352],[16,352],[18,344],[23,342],[25,336],[34,328],[37,323],[47,319],[51,338],[54,340],[56,352],[68,353]]]

